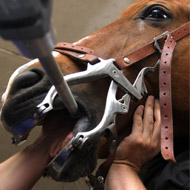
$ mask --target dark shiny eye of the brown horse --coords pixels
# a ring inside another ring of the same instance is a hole
[[[164,21],[170,19],[171,13],[168,9],[162,6],[151,6],[146,8],[140,15],[140,19],[149,21]]]

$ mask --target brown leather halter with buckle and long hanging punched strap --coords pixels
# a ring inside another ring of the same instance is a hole
[[[175,162],[173,153],[173,119],[172,119],[172,100],[171,100],[171,62],[172,55],[176,45],[176,41],[190,34],[190,22],[187,22],[182,27],[174,30],[165,36],[162,36],[158,41],[164,42],[164,46],[161,53],[160,61],[160,106],[161,106],[161,152],[162,156],[166,160],[172,160]],[[140,60],[154,54],[157,49],[154,46],[155,41],[152,41],[148,45],[128,54],[127,56],[121,57],[115,61],[115,65],[119,69],[125,69]],[[82,46],[76,46],[69,43],[58,43],[54,49],[61,54],[67,55],[72,60],[87,64],[95,64],[99,62],[98,57],[95,53]]]

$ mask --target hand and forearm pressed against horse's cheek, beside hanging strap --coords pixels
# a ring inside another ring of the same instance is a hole
[[[160,151],[160,106],[149,96],[145,108],[137,108],[132,133],[119,145],[106,178],[107,190],[145,190],[140,168]]]

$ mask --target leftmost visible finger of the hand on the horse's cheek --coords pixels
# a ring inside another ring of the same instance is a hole
[[[140,105],[137,107],[134,116],[133,116],[133,126],[132,126],[132,133],[139,135],[142,134],[143,131],[143,112],[144,112],[144,106]]]

